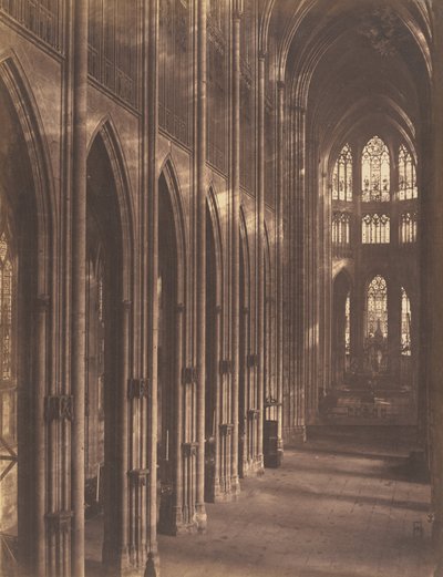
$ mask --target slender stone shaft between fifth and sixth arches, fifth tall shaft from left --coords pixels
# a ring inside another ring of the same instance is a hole
[[[264,419],[265,419],[265,278],[264,278],[264,240],[265,240],[265,54],[258,56],[258,122],[257,122],[257,195],[256,195],[256,243],[257,243],[257,388],[258,402],[258,457],[262,463]],[[262,466],[262,465],[261,465]]]

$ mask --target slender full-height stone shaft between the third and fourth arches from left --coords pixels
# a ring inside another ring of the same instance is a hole
[[[205,377],[206,377],[206,0],[197,1],[197,477],[195,515],[206,529],[205,509]]]

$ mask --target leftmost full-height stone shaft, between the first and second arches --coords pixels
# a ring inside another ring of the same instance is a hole
[[[87,1],[74,2],[72,138],[72,575],[84,576],[84,371],[86,329]]]

